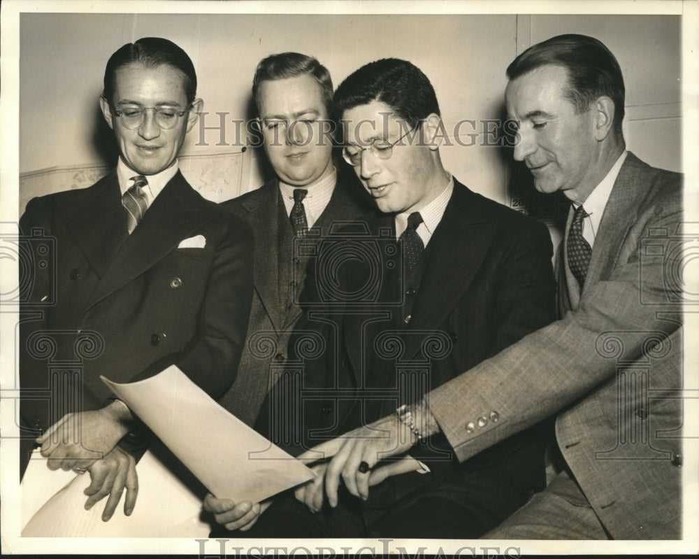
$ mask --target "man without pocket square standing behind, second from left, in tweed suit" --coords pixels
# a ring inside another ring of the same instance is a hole
[[[275,177],[222,204],[254,234],[250,325],[238,376],[221,400],[249,425],[287,360],[313,246],[371,207],[354,175],[333,163],[333,84],[325,66],[297,52],[272,55],[258,64],[252,94]]]

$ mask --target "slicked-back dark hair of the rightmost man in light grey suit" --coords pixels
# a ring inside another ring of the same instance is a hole
[[[568,99],[577,113],[589,110],[598,97],[614,101],[614,132],[621,136],[624,120],[624,78],[619,62],[605,45],[586,35],[559,35],[529,47],[507,66],[514,80],[540,66],[552,64],[568,71]]]

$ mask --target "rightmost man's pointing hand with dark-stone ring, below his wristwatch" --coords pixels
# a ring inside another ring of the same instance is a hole
[[[425,423],[425,425],[428,424]],[[428,435],[436,432],[437,429],[436,423],[432,422],[421,432]],[[398,416],[387,416],[370,425],[345,433],[337,439],[319,444],[299,455],[298,458],[315,461],[333,456],[326,469],[325,493],[330,506],[336,507],[340,476],[345,481],[349,493],[366,500],[370,485],[380,483],[389,476],[417,469],[417,462],[415,467],[410,469],[406,469],[410,462],[394,462],[384,466],[389,468],[387,470],[382,467],[377,469],[377,472],[373,472],[375,474],[373,484],[370,483],[371,476],[368,472],[359,472],[360,462],[366,462],[371,469],[384,458],[405,453],[414,444],[413,437],[408,426]]]

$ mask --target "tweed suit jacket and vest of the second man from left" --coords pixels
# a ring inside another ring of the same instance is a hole
[[[354,173],[340,174],[332,197],[303,245],[294,242],[277,178],[222,204],[252,226],[254,295],[238,376],[220,404],[248,425],[257,419],[277,369],[287,359],[289,334],[301,316],[303,288],[313,246],[331,229],[368,211],[372,204]]]

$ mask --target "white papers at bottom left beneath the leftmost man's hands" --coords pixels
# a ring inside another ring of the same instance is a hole
[[[201,509],[206,488],[167,448],[155,444],[136,472],[134,512],[124,514],[122,496],[115,514],[103,522],[106,498],[85,510],[89,474],[48,469],[37,449],[20,487],[22,537],[208,537],[215,523]]]

